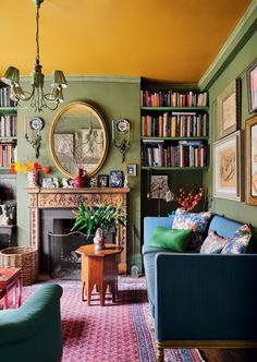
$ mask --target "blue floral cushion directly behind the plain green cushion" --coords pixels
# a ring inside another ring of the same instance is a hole
[[[211,213],[188,213],[178,208],[172,225],[173,229],[191,229],[192,236],[189,238],[187,249],[192,251],[199,251],[205,239],[208,221]]]

